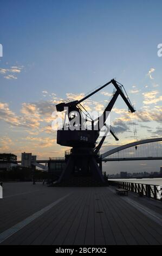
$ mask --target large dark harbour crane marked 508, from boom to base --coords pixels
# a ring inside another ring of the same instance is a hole
[[[81,103],[111,83],[114,86],[114,92],[107,106],[103,110],[103,113],[98,118],[92,119],[90,117],[88,119],[88,112]],[[96,141],[99,138],[101,129],[103,129],[104,126],[108,128],[106,120],[119,95],[125,101],[129,111],[132,113],[135,112],[124,86],[114,79],[98,89],[95,89],[81,100],[66,101],[56,105],[57,112],[64,111],[66,117],[69,119],[68,124],[64,123],[62,129],[57,130],[57,144],[72,147],[72,149],[65,153],[66,167],[58,182],[68,180],[72,178],[72,176],[90,176],[100,184],[105,182],[102,175],[102,162],[99,156],[99,150],[102,147],[108,131],[117,141],[118,137],[115,135],[112,126],[109,126],[109,130],[107,129],[98,145],[96,145]],[[83,117],[85,111],[87,113],[86,118]],[[102,120],[101,124],[100,120]],[[88,129],[87,121],[90,121],[91,129]]]

